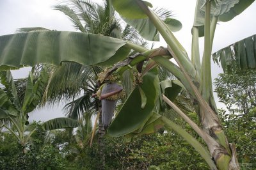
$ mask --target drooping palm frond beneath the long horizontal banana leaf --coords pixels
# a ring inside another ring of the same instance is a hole
[[[72,100],[73,96],[79,95],[81,89],[90,86],[93,81],[91,66],[63,63],[63,65],[52,69],[44,101],[53,104],[54,102]],[[91,88],[91,90],[94,89]]]

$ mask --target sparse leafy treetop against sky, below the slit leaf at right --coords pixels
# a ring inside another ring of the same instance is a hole
[[[214,85],[220,102],[226,105],[229,112],[247,114],[256,106],[255,70],[241,72],[232,68],[230,73],[220,73]]]

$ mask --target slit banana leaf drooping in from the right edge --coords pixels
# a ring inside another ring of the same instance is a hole
[[[221,66],[224,72],[230,66],[237,66],[241,70],[256,68],[256,35],[249,36],[239,42],[228,45],[212,54],[212,59]]]

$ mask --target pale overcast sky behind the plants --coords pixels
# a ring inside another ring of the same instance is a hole
[[[0,0],[0,35],[15,33],[20,27],[45,27],[58,31],[75,31],[72,22],[61,12],[52,10],[56,0]],[[100,2],[100,0],[97,0]],[[196,0],[151,0],[154,7],[164,7],[172,10],[174,18],[182,22],[182,30],[175,33],[177,39],[187,50],[189,56],[191,51],[191,27],[195,11]],[[256,33],[256,3],[253,3],[241,15],[230,22],[220,22],[216,28],[212,52],[219,50],[233,42],[237,42],[247,36]],[[200,40],[202,42],[202,40]],[[201,43],[202,44],[202,43]],[[165,46],[164,42],[157,45]],[[157,47],[157,46],[155,46]],[[24,71],[15,71],[15,77],[26,77],[29,68]],[[212,77],[222,72],[221,68],[212,65]],[[218,100],[218,99],[216,99]],[[218,104],[220,107],[223,105]],[[29,120],[49,120],[61,115],[61,107],[55,109],[41,109],[31,114]]]

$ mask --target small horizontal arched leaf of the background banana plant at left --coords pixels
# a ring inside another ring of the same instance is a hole
[[[45,121],[45,123],[42,125],[45,130],[54,130],[58,128],[76,128],[78,126],[78,121],[70,118],[55,118],[49,121]]]

